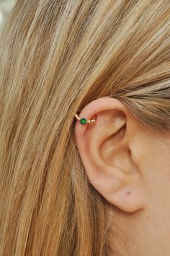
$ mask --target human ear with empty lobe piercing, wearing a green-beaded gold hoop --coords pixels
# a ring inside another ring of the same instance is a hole
[[[77,120],[75,127],[77,148],[89,182],[122,211],[138,211],[145,207],[146,193],[131,150],[138,136],[137,120],[120,100],[110,97],[90,102],[79,118],[91,120],[95,115],[94,123],[82,125]]]

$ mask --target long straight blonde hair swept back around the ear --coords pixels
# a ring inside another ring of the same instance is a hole
[[[18,0],[1,35],[0,255],[108,255],[74,114],[115,97],[170,130],[170,12],[159,0]]]

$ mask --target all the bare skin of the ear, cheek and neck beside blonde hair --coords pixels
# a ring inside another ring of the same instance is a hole
[[[90,102],[76,122],[86,175],[115,214],[110,255],[170,255],[170,134],[141,125],[117,99]]]

